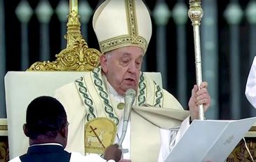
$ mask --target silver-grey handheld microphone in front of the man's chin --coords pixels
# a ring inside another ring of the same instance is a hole
[[[129,117],[130,117],[130,109],[133,106],[135,97],[136,97],[135,90],[131,88],[126,90],[126,95],[124,96],[123,129],[122,129],[122,135],[118,142],[119,147],[121,147],[124,137],[126,136],[126,130],[128,126]]]

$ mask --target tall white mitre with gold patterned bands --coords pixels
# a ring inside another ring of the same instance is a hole
[[[147,50],[152,26],[142,0],[106,0],[93,15],[93,29],[102,53],[124,46]]]

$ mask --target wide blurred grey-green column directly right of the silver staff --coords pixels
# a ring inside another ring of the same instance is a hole
[[[217,1],[202,1],[203,18],[201,22],[201,53],[203,81],[208,82],[211,107],[206,112],[207,119],[219,119],[219,67],[217,42]]]

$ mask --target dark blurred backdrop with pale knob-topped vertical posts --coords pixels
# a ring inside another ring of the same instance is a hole
[[[97,48],[93,12],[102,0],[79,0],[81,32]],[[143,71],[161,72],[166,88],[187,109],[196,84],[193,27],[189,0],[144,0],[153,34]],[[201,55],[203,81],[212,106],[208,119],[242,119],[256,115],[246,100],[245,83],[256,55],[256,1],[203,0]],[[69,0],[0,0],[0,118],[6,118],[4,76],[25,71],[37,61],[53,61],[65,48]],[[26,95],[26,92],[24,92]]]

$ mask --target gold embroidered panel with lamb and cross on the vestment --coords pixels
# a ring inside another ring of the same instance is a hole
[[[95,118],[85,125],[86,153],[104,154],[116,137],[116,124],[104,117]]]

